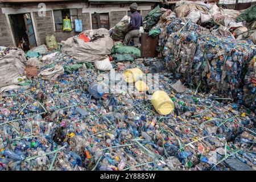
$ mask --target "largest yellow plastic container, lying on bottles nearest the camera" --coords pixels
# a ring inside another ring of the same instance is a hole
[[[158,90],[152,94],[151,103],[155,107],[155,110],[162,115],[170,114],[175,108],[174,102],[162,90]]]

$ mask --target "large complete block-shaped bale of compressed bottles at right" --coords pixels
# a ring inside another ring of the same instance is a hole
[[[204,92],[236,98],[245,68],[255,54],[250,41],[220,39],[201,32],[172,33],[163,48],[167,67]]]

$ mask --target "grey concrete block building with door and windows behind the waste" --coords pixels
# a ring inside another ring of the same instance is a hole
[[[143,18],[160,3],[159,0],[0,0],[0,46],[18,46],[26,38],[30,48],[45,44],[46,36],[57,42],[79,34],[75,19],[82,20],[82,30],[112,28],[125,15],[129,5],[137,2]],[[63,31],[63,19],[71,19],[72,31]]]

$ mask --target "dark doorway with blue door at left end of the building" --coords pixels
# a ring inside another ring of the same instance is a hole
[[[30,13],[9,15],[16,46],[23,51],[36,47],[35,32]]]

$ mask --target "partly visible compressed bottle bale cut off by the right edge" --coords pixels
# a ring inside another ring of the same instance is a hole
[[[242,97],[240,100],[238,98],[238,102],[241,102],[241,104],[244,104],[249,109],[256,111],[256,56],[250,61],[242,91]]]

